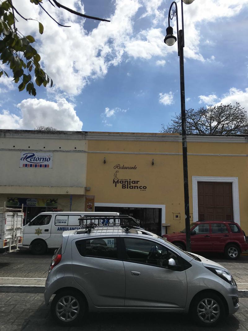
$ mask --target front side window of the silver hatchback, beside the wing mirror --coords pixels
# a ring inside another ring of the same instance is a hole
[[[169,259],[180,265],[180,257],[167,247],[145,239],[124,238],[125,260],[168,267]]]

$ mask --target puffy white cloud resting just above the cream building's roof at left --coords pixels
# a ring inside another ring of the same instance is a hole
[[[17,105],[21,115],[8,110],[0,113],[1,129],[30,129],[36,126],[52,126],[58,130],[80,131],[83,123],[76,115],[74,105],[65,99],[56,102],[44,99],[25,99]]]

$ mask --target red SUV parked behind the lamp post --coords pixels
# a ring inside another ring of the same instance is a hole
[[[174,245],[186,250],[186,230],[163,235]],[[197,221],[190,224],[192,252],[224,253],[235,260],[248,250],[245,233],[233,221]]]

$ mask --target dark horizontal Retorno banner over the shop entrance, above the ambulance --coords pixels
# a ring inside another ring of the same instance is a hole
[[[24,207],[58,207],[58,199],[36,199],[36,198],[16,198],[8,197],[7,206]]]

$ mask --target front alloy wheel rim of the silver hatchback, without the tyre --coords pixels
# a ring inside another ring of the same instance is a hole
[[[203,299],[197,306],[197,315],[204,323],[213,323],[220,316],[220,306],[213,299]]]

